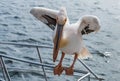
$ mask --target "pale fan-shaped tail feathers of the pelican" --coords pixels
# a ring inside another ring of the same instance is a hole
[[[91,58],[92,55],[90,54],[90,52],[88,51],[88,49],[86,47],[83,47],[82,50],[80,51],[78,58],[80,59],[87,59],[87,58]]]

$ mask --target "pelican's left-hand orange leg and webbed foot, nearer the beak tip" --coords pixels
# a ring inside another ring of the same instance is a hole
[[[54,68],[54,75],[56,75],[56,74],[60,75],[63,72],[64,68],[62,67],[62,61],[63,61],[64,56],[65,56],[65,53],[62,52],[62,56],[61,56],[60,62]]]

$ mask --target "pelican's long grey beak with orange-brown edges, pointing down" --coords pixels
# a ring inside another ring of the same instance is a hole
[[[54,38],[53,62],[56,61],[56,58],[58,56],[60,40],[61,40],[62,33],[63,33],[63,26],[64,25],[60,25],[60,24],[57,25],[56,36]]]

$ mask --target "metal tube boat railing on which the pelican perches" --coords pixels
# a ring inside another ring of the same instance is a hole
[[[40,53],[39,49],[40,48],[53,49],[53,47],[45,46],[45,45],[22,44],[22,43],[13,43],[13,42],[0,42],[0,44],[1,45],[17,45],[17,46],[24,46],[24,47],[33,47],[33,48],[36,48],[36,51],[37,51],[37,54],[38,54],[38,57],[39,57],[39,62],[33,62],[33,61],[28,61],[28,60],[25,60],[25,59],[20,59],[20,58],[16,58],[16,57],[9,56],[9,55],[4,55],[4,54],[0,53],[0,68],[1,68],[1,72],[3,74],[3,80],[4,81],[12,81],[11,77],[10,77],[10,74],[9,74],[9,68],[6,66],[4,58],[41,66],[42,72],[44,74],[45,81],[48,81],[47,71],[45,70],[45,67],[53,69],[54,65],[49,65],[49,64],[45,64],[45,63],[42,62],[41,53]],[[87,81],[90,81],[91,79],[95,79],[95,80],[98,80],[98,81],[104,80],[103,78],[99,78],[98,75],[96,75],[81,59],[78,59],[78,61],[87,69],[87,71],[76,70],[75,69],[74,71],[76,73],[82,73],[83,74],[82,76],[80,76],[77,79],[77,81],[83,81],[85,78],[88,78]],[[21,68],[21,69],[20,68],[13,68],[13,69],[14,70],[15,69],[24,70],[23,68]],[[91,77],[91,75],[93,75],[93,77]],[[74,76],[76,76],[76,75],[74,75]],[[22,78],[25,80],[24,76],[22,76]]]

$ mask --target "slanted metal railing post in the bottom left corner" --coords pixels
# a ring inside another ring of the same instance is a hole
[[[2,65],[2,69],[3,69],[3,73],[4,73],[4,78],[5,78],[5,80],[6,80],[6,81],[11,81],[10,75],[9,75],[9,73],[8,73],[8,70],[7,70],[6,66],[5,66],[5,63],[4,63],[4,60],[3,60],[2,57],[0,57],[0,61],[1,61],[1,65]],[[7,78],[6,78],[6,77],[7,77]]]

